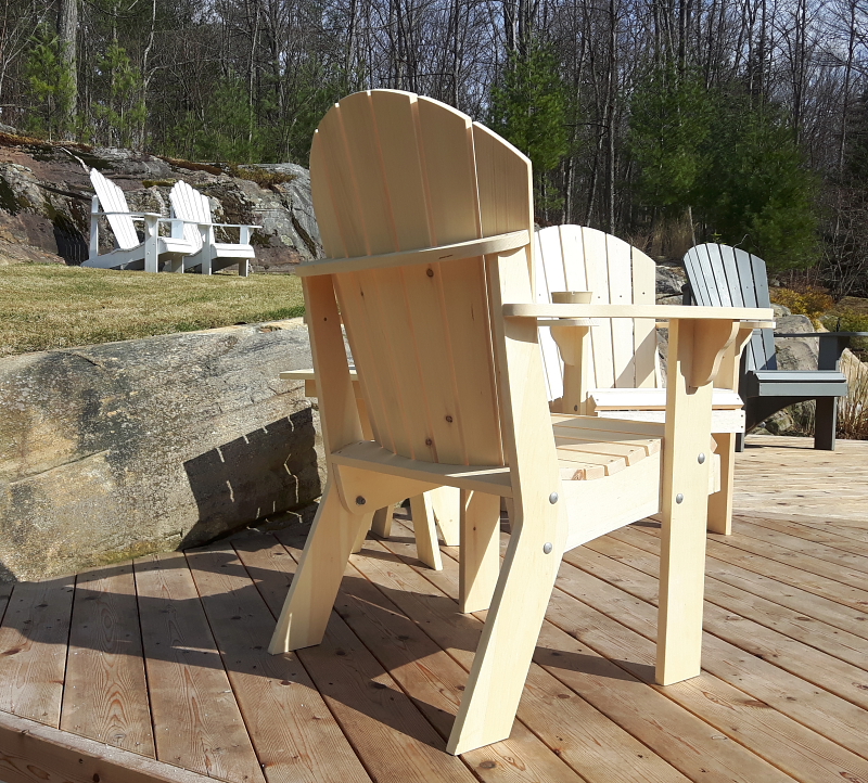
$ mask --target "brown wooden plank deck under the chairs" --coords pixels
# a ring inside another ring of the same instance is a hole
[[[868,442],[749,444],[697,679],[652,684],[639,523],[566,555],[512,736],[454,758],[482,628],[457,552],[435,573],[400,524],[369,540],[326,642],[272,657],[304,531],[246,531],[2,599],[0,780],[868,783]]]

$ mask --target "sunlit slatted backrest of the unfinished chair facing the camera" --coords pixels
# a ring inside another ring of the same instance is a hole
[[[591,291],[597,304],[652,305],[655,265],[641,251],[602,231],[559,226],[536,233],[536,299],[552,291]],[[589,381],[593,388],[658,387],[653,319],[600,319],[591,329]],[[549,399],[563,395],[563,365],[548,329],[539,330]]]

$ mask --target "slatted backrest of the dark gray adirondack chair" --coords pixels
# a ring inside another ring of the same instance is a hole
[[[740,247],[697,245],[685,255],[685,269],[699,305],[771,306],[765,261]],[[748,370],[776,370],[778,367],[770,329],[755,330],[744,352]]]

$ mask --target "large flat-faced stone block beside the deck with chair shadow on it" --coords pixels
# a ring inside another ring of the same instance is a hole
[[[296,322],[0,360],[0,580],[203,543],[321,492]]]

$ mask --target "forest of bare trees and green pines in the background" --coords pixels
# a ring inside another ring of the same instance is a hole
[[[0,119],[306,165],[333,101],[411,90],[531,157],[542,224],[659,259],[720,241],[866,296],[866,18],[868,0],[0,0]]]

